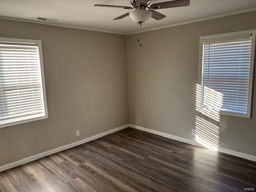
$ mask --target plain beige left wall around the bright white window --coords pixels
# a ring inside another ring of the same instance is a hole
[[[126,36],[0,20],[0,37],[42,40],[49,113],[0,129],[0,166],[128,124]]]

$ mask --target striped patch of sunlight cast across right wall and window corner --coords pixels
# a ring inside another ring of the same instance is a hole
[[[201,99],[203,96],[203,101]],[[201,107],[204,106],[204,107]],[[220,112],[216,108],[222,106],[222,94],[204,86],[196,84],[196,133],[195,140],[211,150],[218,150],[220,134]]]

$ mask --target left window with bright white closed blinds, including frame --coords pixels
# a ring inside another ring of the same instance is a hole
[[[41,41],[0,38],[0,128],[44,118]]]

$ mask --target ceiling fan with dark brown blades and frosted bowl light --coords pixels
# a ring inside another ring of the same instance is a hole
[[[123,14],[114,20],[122,19],[128,15],[137,22],[138,24],[142,25],[142,23],[146,22],[150,19],[150,17],[154,18],[155,20],[160,20],[165,18],[166,16],[155,11],[154,9],[165,9],[165,8],[174,8],[174,7],[182,7],[188,6],[190,4],[190,0],[172,0],[168,2],[159,2],[151,4],[151,0],[130,0],[132,7],[128,6],[115,6],[115,5],[100,5],[95,4],[94,6],[99,7],[114,7],[114,8],[123,8],[123,9],[134,9],[131,12]],[[151,4],[151,5],[150,5]],[[148,8],[148,10],[147,10]]]

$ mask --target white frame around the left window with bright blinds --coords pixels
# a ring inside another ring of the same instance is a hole
[[[0,37],[0,42],[27,43],[27,44],[36,44],[38,46],[40,70],[41,70],[41,80],[42,80],[42,96],[43,96],[43,102],[44,102],[44,116],[40,116],[39,114],[33,114],[33,115],[28,115],[28,116],[10,118],[9,120],[2,120],[2,123],[0,124],[0,128],[49,118],[48,117],[47,100],[46,100],[46,87],[45,87],[45,80],[44,80],[44,62],[43,62],[43,51],[42,51],[41,40]],[[36,117],[36,116],[38,116],[38,117]]]

